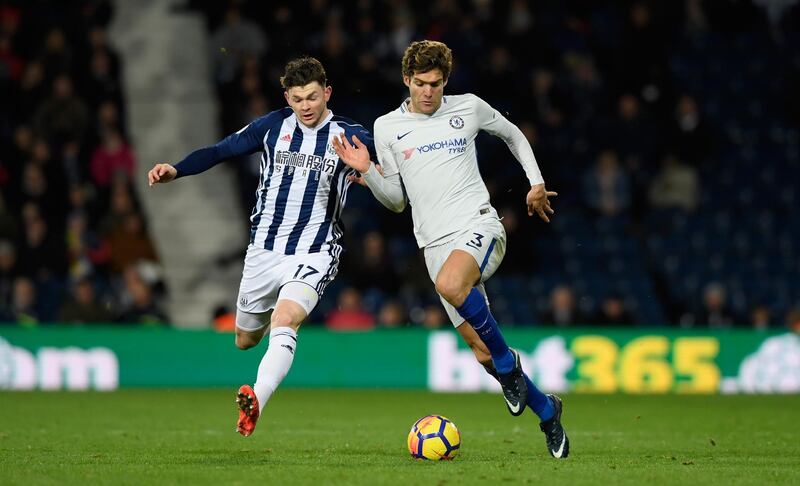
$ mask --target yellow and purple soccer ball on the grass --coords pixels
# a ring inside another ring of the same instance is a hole
[[[458,455],[461,433],[456,424],[441,415],[417,420],[408,433],[408,452],[416,459],[449,461]]]

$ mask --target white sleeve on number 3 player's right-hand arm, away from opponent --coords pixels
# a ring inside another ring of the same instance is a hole
[[[530,184],[543,184],[544,178],[539,170],[539,164],[533,155],[531,144],[516,125],[508,121],[499,111],[492,108],[489,103],[477,96],[473,96],[475,103],[475,113],[481,130],[484,130],[496,137],[500,137],[508,145],[514,158],[522,165],[525,175]]]

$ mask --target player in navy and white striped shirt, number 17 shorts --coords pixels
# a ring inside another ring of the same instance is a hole
[[[289,107],[257,118],[174,167],[156,164],[148,173],[152,186],[261,152],[261,181],[237,299],[236,346],[252,348],[270,332],[255,384],[242,385],[237,393],[236,430],[244,436],[253,433],[292,365],[300,323],[336,276],[340,218],[354,171],[339,160],[331,140],[357,135],[374,154],[372,136],[363,126],[327,108],[331,87],[318,60],[289,62],[281,85]]]

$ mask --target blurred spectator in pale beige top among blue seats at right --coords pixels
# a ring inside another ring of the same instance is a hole
[[[656,209],[681,209],[692,212],[700,196],[697,169],[667,155],[661,170],[650,184],[650,205]]]

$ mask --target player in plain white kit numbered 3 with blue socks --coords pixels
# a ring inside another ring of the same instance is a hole
[[[375,121],[380,167],[357,137],[351,138],[354,146],[340,137],[334,148],[384,206],[400,212],[411,204],[414,235],[453,325],[500,382],[511,414],[530,407],[540,418],[550,454],[565,458],[569,440],[561,425],[561,399],[543,394],[525,375],[488,307],[483,283],[503,259],[506,235],[478,171],[478,132],[502,138],[522,165],[530,183],[529,215],[549,222],[548,198],[556,193],[545,189],[533,150],[514,124],[475,95],[444,96],[451,68],[445,44],[413,42],[403,56],[410,97]]]

